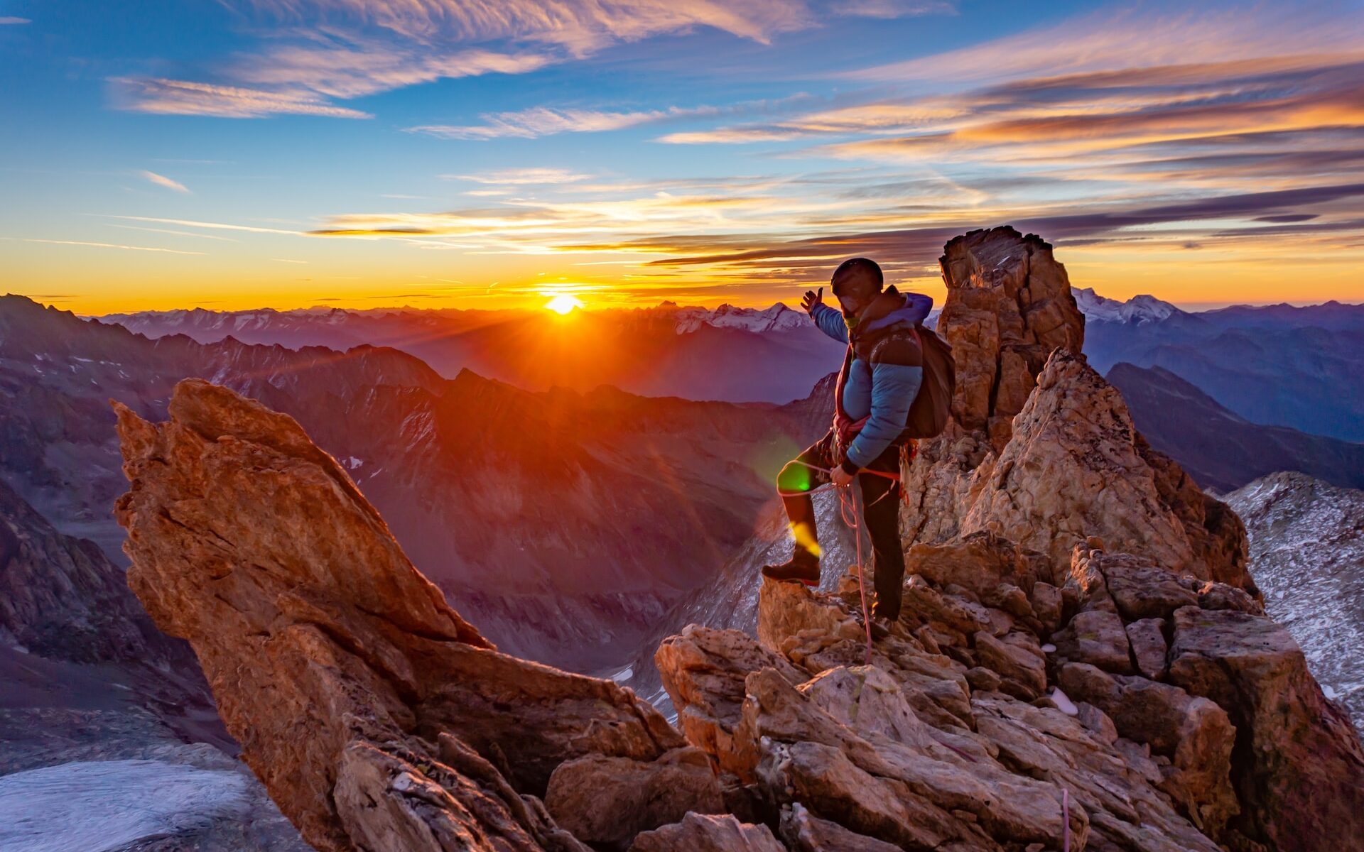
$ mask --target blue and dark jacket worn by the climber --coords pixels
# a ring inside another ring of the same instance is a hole
[[[820,331],[853,345],[853,361],[842,389],[843,412],[854,421],[868,420],[840,462],[847,473],[870,465],[904,431],[910,405],[923,380],[923,356],[910,335],[885,338],[896,330],[918,326],[932,309],[932,297],[900,293],[892,285],[862,314],[851,335],[837,309],[818,305],[810,312]],[[883,341],[885,344],[877,346]]]

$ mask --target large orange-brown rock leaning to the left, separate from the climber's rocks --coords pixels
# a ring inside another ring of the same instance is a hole
[[[128,582],[190,641],[243,759],[314,847],[580,851],[558,821],[581,814],[542,803],[578,802],[555,781],[581,780],[580,759],[653,784],[659,819],[716,807],[653,708],[496,652],[293,419],[196,379],[168,423],[115,409]],[[610,814],[634,791],[596,793]]]

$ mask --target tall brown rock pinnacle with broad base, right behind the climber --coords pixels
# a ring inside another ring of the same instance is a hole
[[[943,435],[903,472],[908,543],[993,530],[1064,570],[1090,537],[1169,571],[1254,590],[1245,530],[1132,427],[1086,363],[1065,267],[1035,234],[974,230],[947,244],[938,331],[958,386]]]

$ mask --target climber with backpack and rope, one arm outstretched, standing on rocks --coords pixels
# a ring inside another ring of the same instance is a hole
[[[833,427],[777,476],[795,549],[788,562],[765,566],[762,575],[818,585],[820,543],[809,492],[857,480],[874,555],[873,624],[885,633],[900,615],[899,474],[902,455],[914,453],[907,417],[923,379],[921,333],[933,333],[921,323],[933,300],[884,286],[881,267],[866,258],[844,260],[829,285],[842,312],[824,304],[824,288],[807,290],[801,307],[821,331],[848,344],[833,394]]]

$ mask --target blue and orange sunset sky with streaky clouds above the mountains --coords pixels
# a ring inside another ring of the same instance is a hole
[[[1364,3],[0,0],[0,292],[78,314],[1364,301]]]

